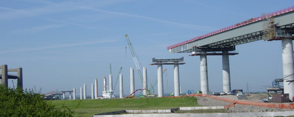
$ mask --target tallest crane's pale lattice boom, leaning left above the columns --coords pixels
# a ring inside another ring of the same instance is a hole
[[[131,53],[132,53],[132,56],[133,56],[133,59],[134,59],[134,62],[135,62],[136,68],[137,68],[137,70],[138,70],[139,76],[140,76],[140,78],[141,78],[142,84],[143,84],[143,86],[144,86],[143,75],[142,75],[142,72],[141,72],[140,66],[139,66],[139,64],[138,64],[137,58],[136,58],[137,55],[136,55],[136,53],[135,53],[135,51],[134,51],[133,45],[131,44],[131,41],[130,41],[128,35],[125,34],[125,36],[126,36],[126,40],[128,41],[129,48],[130,48],[130,51],[131,51]],[[139,60],[139,59],[138,59],[138,60]],[[140,61],[139,61],[139,62],[140,62]],[[152,87],[152,88],[153,88],[153,87]],[[147,89],[145,89],[145,90],[147,90]],[[147,90],[147,91],[148,91],[148,90]],[[147,91],[146,91],[146,92],[147,92]],[[149,94],[150,94],[150,92],[149,92]]]

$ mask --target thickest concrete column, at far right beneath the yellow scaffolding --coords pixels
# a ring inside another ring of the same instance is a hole
[[[283,61],[283,78],[284,93],[289,94],[290,100],[294,96],[294,64],[293,64],[293,42],[291,38],[282,39],[282,61]]]

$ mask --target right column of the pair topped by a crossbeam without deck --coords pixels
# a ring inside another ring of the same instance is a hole
[[[179,64],[174,64],[174,89],[175,97],[180,95]]]

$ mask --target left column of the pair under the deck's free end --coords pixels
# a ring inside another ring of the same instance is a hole
[[[200,55],[200,83],[203,94],[208,93],[207,55]]]

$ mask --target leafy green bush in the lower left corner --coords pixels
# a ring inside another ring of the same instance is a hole
[[[72,117],[67,106],[55,108],[44,95],[21,87],[7,88],[0,84],[0,117]]]

